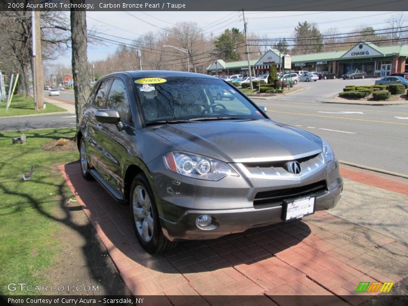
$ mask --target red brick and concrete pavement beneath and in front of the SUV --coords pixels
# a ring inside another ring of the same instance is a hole
[[[393,197],[403,205],[408,201],[405,181],[390,191],[372,186],[378,185],[374,174],[363,185],[358,181],[364,173],[345,169],[344,197],[337,211],[215,240],[179,243],[151,256],[136,239],[128,207],[117,205],[96,182],[84,181],[78,163],[59,168],[134,295],[164,294],[169,304],[176,300],[173,295],[205,296],[206,304],[211,304],[209,295],[264,295],[279,305],[285,304],[283,295],[319,295],[326,297],[322,304],[357,305],[376,294],[355,293],[360,282],[397,283],[408,275],[407,244],[364,224],[371,215],[359,211],[363,206],[375,214],[373,200],[379,195],[383,206],[384,198]],[[385,185],[394,183],[380,179]],[[362,196],[355,206],[350,194],[359,190]],[[356,220],[337,216],[342,213],[354,214]],[[388,218],[394,221],[394,216]]]

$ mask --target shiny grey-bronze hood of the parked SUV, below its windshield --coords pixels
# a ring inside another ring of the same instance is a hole
[[[225,162],[289,160],[321,151],[313,134],[269,119],[218,120],[150,127],[181,149]]]

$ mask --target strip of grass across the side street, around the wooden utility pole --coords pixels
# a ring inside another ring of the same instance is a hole
[[[6,112],[6,103],[7,103],[6,100],[0,102],[0,117],[46,114],[46,113],[66,111],[50,103],[46,103],[45,110],[36,111],[34,109],[34,99],[33,98],[26,99],[25,97],[22,97],[18,94],[13,96],[8,112]]]

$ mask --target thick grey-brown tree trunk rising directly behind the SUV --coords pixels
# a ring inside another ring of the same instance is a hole
[[[81,0],[71,0],[72,4],[80,4]],[[88,76],[88,56],[86,40],[86,12],[71,9],[71,39],[72,39],[72,77],[75,97],[75,115],[77,126],[81,108],[86,103],[90,91]]]

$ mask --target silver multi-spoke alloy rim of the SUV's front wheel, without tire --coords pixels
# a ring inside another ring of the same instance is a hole
[[[137,185],[132,198],[133,216],[139,236],[149,242],[153,237],[154,219],[150,197],[143,186]]]

